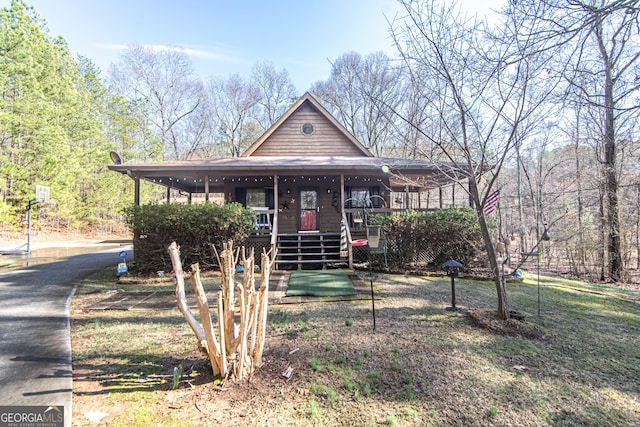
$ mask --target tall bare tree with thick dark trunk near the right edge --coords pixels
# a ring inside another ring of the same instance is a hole
[[[628,121],[637,117],[640,91],[640,2],[637,0],[523,0],[518,11],[545,17],[541,40],[566,45],[572,66],[564,77],[585,105],[599,110],[603,184],[605,192],[607,275],[613,281],[624,276],[620,223],[620,144],[628,133]]]

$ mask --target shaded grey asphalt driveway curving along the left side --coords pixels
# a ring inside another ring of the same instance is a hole
[[[110,265],[115,274],[123,248],[92,250],[0,273],[2,405],[63,405],[71,425],[69,302],[80,279]]]

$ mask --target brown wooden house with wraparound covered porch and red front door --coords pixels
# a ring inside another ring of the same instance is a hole
[[[351,242],[366,237],[368,215],[469,203],[466,194],[456,199],[455,165],[375,157],[309,93],[241,157],[115,163],[109,169],[134,180],[137,204],[146,181],[166,188],[167,203],[179,192],[189,202],[252,208],[249,240],[278,249],[276,268],[351,265]]]

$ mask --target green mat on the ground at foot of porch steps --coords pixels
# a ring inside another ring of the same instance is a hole
[[[317,297],[355,295],[356,289],[343,270],[294,270],[289,277],[287,296]]]

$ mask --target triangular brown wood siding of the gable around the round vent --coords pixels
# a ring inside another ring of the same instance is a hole
[[[302,125],[313,125],[313,134],[302,133]],[[251,156],[365,156],[312,105],[296,110]]]

